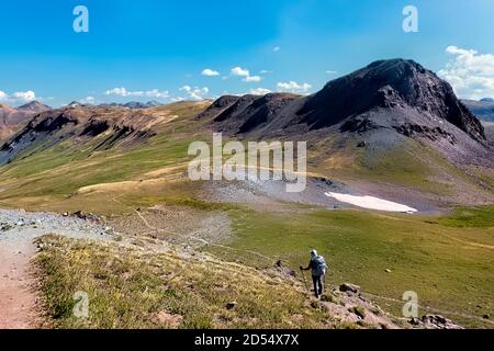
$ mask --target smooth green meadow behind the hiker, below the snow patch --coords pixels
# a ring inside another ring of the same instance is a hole
[[[467,326],[493,327],[494,207],[458,210],[450,217],[384,215],[363,211],[312,213],[231,212],[233,250],[225,259],[266,267],[281,259],[297,270],[318,249],[329,263],[328,283],[351,282],[397,303],[418,294],[424,314]],[[256,251],[257,254],[252,254]],[[388,270],[388,271],[386,271]],[[383,306],[384,307],[384,306]],[[468,316],[468,317],[465,317]]]

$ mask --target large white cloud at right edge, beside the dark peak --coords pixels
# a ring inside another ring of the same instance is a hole
[[[479,100],[494,97],[494,55],[457,46],[448,46],[446,53],[451,58],[438,75],[453,87],[460,98]]]

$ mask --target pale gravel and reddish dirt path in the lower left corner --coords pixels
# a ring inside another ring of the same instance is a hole
[[[0,329],[37,326],[35,281],[30,274],[34,239],[58,234],[104,240],[110,233],[111,228],[78,217],[0,210]]]

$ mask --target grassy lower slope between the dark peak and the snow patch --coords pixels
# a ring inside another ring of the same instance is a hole
[[[409,201],[411,191],[439,207],[494,201],[492,169],[452,165],[434,148],[409,138],[358,147],[360,141],[357,136],[335,135],[316,144],[310,151],[310,170],[378,194],[394,193],[398,202]]]

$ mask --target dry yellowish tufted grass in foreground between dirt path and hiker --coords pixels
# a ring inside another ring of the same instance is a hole
[[[56,236],[35,259],[48,328],[323,328],[336,326],[301,286],[211,257]],[[76,317],[76,292],[88,296]]]

